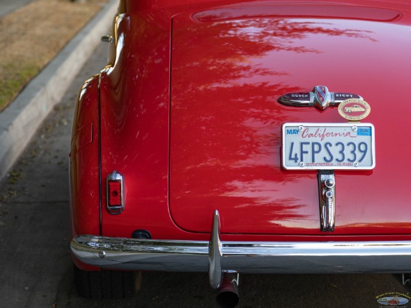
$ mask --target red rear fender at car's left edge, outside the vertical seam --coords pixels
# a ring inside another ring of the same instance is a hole
[[[70,149],[71,236],[99,234],[99,77],[84,82],[75,105]],[[77,267],[91,266],[74,260]]]

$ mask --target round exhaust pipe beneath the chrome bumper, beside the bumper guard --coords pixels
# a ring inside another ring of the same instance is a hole
[[[217,305],[221,308],[233,308],[238,304],[238,272],[223,273],[223,281],[216,296]]]

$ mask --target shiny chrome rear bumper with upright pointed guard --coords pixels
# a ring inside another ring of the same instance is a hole
[[[225,271],[242,273],[411,272],[411,241],[399,242],[221,242],[214,213],[210,242],[136,240],[79,235],[71,251],[101,268],[209,272],[218,287]]]

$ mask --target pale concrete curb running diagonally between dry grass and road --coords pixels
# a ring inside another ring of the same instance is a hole
[[[75,75],[108,34],[118,0],[102,10],[27,84],[0,114],[0,179],[20,156],[47,114],[62,99]],[[40,168],[40,167],[39,167]]]

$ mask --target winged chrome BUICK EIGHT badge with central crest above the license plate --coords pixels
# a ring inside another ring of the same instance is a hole
[[[312,92],[284,94],[278,99],[278,102],[288,106],[315,106],[319,110],[325,110],[328,106],[338,106],[346,99],[362,99],[362,97],[352,93],[329,92],[326,86],[315,86]]]

